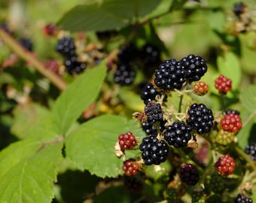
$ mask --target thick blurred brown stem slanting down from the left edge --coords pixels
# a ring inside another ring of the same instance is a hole
[[[48,71],[44,64],[38,60],[35,56],[33,56],[29,51],[25,50],[14,38],[12,38],[8,33],[6,33],[3,29],[0,29],[0,37],[5,41],[5,44],[11,48],[17,56],[20,56],[21,59],[24,59],[26,62],[30,62],[33,67],[40,72],[44,77],[47,77],[53,85],[55,85],[60,90],[66,89],[66,83],[62,80],[61,77],[53,74],[51,71]]]

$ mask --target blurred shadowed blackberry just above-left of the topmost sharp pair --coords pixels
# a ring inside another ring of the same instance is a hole
[[[151,43],[146,43],[141,50],[141,58],[144,65],[154,66],[160,63],[160,50],[157,46]]]

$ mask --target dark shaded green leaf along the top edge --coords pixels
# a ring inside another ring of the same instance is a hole
[[[128,25],[133,17],[141,17],[152,11],[160,1],[106,0],[72,8],[57,23],[71,32],[105,31]],[[125,12],[123,12],[125,11]]]

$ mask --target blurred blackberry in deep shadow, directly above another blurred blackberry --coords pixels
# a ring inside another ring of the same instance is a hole
[[[121,47],[117,53],[117,58],[119,62],[129,63],[137,56],[138,50],[133,43],[126,44],[124,47]]]

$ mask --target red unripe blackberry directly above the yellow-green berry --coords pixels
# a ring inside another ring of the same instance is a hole
[[[222,129],[228,132],[238,132],[242,128],[242,120],[238,114],[227,114],[221,119]]]

